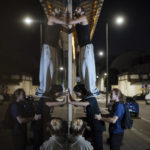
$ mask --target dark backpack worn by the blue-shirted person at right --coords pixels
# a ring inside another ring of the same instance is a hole
[[[125,113],[124,113],[124,116],[121,120],[121,127],[123,129],[131,129],[132,126],[133,126],[133,120],[131,118],[128,107],[125,104],[123,104],[123,106],[124,106],[124,109],[125,109]]]

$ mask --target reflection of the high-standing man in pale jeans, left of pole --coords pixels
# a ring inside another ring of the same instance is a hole
[[[66,20],[61,19],[61,10],[54,8],[44,28],[44,41],[39,72],[40,86],[35,94],[37,97],[44,96],[45,93],[51,90],[52,85],[56,84],[58,69],[57,50],[59,48],[59,33],[62,25],[66,25]]]

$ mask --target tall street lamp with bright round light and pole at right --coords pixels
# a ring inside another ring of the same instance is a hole
[[[117,25],[124,23],[124,18],[116,17],[115,22]],[[108,87],[109,87],[109,57],[108,57],[108,23],[106,23],[106,106],[108,105]]]

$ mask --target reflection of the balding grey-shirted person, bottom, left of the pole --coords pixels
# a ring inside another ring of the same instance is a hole
[[[66,150],[66,141],[62,137],[63,121],[58,118],[52,119],[48,128],[51,137],[41,145],[40,150]]]

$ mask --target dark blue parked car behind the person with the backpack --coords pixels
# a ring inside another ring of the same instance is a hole
[[[108,104],[108,111],[111,112],[114,102],[110,101]],[[139,116],[139,104],[133,99],[133,97],[126,97],[125,105],[129,109],[131,116]]]

